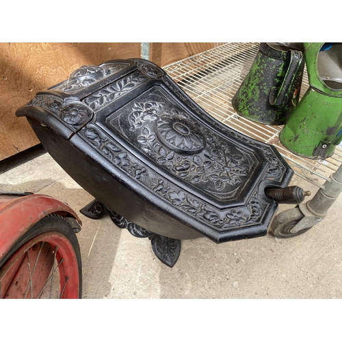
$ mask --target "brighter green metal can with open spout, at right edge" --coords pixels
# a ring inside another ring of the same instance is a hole
[[[342,141],[342,43],[304,43],[309,88],[280,132],[296,155],[326,159]]]

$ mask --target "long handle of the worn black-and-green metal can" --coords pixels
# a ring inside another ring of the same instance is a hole
[[[287,73],[284,77],[284,81],[282,81],[282,85],[280,86],[280,90],[278,94],[276,94],[276,89],[273,89],[269,92],[269,103],[271,105],[281,105],[285,100],[285,96],[289,91],[291,83],[295,77],[295,74],[302,63],[303,53],[302,51],[291,50],[291,60],[289,68],[287,69]]]

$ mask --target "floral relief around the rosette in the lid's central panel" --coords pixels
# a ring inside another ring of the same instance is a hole
[[[159,165],[194,185],[202,183],[221,198],[235,192],[250,174],[253,161],[209,130],[202,133],[179,111],[168,114],[164,107],[155,101],[133,106],[129,122],[131,131],[140,132],[140,148]],[[153,121],[156,129],[151,131]]]

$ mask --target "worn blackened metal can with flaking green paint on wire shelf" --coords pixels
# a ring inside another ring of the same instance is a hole
[[[237,114],[263,124],[285,124],[299,101],[302,44],[261,43],[232,100]]]

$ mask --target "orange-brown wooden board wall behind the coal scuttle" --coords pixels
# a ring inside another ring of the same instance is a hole
[[[222,43],[150,43],[150,60],[166,66]],[[83,65],[140,57],[140,43],[0,43],[0,160],[39,141],[15,111],[36,92],[67,79]]]

